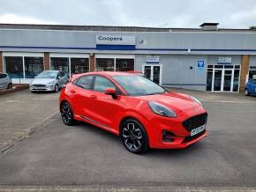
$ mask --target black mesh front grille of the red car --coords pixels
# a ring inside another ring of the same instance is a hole
[[[207,114],[200,114],[193,116],[183,122],[184,129],[191,132],[192,129],[199,128],[200,126],[207,123]]]

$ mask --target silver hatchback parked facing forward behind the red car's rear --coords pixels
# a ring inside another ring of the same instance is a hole
[[[44,70],[29,83],[31,92],[58,92],[68,80],[60,70]]]

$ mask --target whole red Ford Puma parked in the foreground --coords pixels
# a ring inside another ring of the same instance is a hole
[[[74,75],[59,102],[64,124],[94,124],[120,136],[134,153],[184,148],[207,136],[207,111],[199,100],[131,73]]]

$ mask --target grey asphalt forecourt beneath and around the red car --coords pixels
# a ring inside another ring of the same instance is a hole
[[[33,134],[0,153],[0,186],[256,187],[256,97],[178,91],[198,97],[208,110],[208,137],[199,143],[135,155],[102,129],[64,126],[55,107],[45,110],[49,118]],[[23,94],[16,99],[31,93]],[[57,106],[57,94],[35,94],[41,96]]]

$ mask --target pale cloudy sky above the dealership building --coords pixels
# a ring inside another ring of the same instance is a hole
[[[0,23],[221,28],[256,26],[256,0],[0,0]]]

